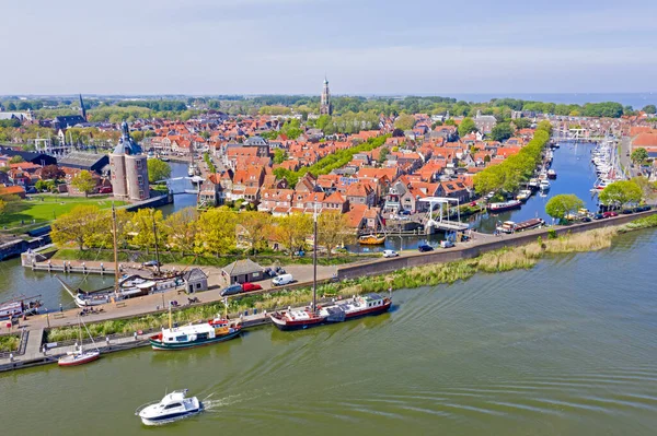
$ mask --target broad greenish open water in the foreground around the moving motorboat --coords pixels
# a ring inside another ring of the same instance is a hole
[[[395,292],[374,318],[4,373],[2,429],[153,434],[135,409],[188,388],[207,412],[155,433],[654,435],[656,268],[657,232],[643,231],[531,270]]]

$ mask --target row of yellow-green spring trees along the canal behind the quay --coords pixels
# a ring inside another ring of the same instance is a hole
[[[227,207],[198,212],[186,208],[164,219],[162,212],[140,209],[116,210],[117,247],[151,251],[158,248],[181,254],[255,254],[277,244],[290,255],[308,246],[312,236],[312,216],[292,213],[275,217],[266,212],[235,212]],[[53,241],[79,250],[113,247],[112,213],[96,205],[79,205],[59,216],[51,225]],[[157,238],[155,238],[157,234]],[[318,216],[318,244],[328,255],[355,240],[347,216],[324,212]]]

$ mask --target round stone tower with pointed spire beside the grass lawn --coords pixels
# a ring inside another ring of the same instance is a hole
[[[122,137],[110,153],[110,170],[114,197],[139,201],[150,197],[147,156],[130,138],[128,123],[122,125]]]

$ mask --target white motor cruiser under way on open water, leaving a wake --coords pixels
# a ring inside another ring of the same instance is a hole
[[[164,396],[155,403],[137,409],[135,414],[145,425],[162,425],[184,420],[203,412],[203,403],[198,398],[187,398],[187,389],[176,390]]]

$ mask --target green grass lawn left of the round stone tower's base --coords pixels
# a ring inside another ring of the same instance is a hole
[[[32,196],[28,200],[21,200],[12,213],[3,213],[0,216],[0,227],[19,227],[21,221],[24,225],[48,223],[59,215],[70,212],[77,205],[95,204],[101,209],[112,207],[112,200],[104,197],[67,197],[67,196]],[[124,201],[114,201],[115,205],[126,204]]]

